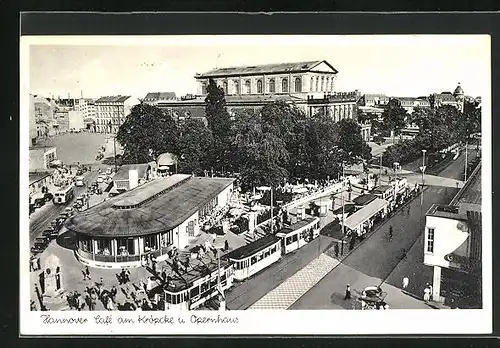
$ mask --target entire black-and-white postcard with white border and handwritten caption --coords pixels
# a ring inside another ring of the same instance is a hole
[[[26,333],[491,329],[489,36],[41,36],[20,57]]]

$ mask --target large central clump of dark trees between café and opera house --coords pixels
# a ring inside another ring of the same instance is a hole
[[[333,178],[341,163],[371,156],[353,120],[336,123],[323,113],[307,117],[284,102],[241,110],[231,117],[224,91],[213,81],[205,101],[206,123],[176,122],[157,107],[135,106],[117,134],[124,147],[123,161],[149,162],[170,152],[178,158],[179,172],[236,172],[242,185],[250,188],[289,179]]]

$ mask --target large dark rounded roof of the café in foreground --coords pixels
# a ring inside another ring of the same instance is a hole
[[[66,227],[96,237],[134,237],[169,231],[232,184],[231,178],[172,175],[110,198],[70,218]]]

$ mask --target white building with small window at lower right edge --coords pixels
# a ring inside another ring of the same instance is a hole
[[[452,275],[466,275],[468,281],[475,283],[475,290],[480,294],[481,219],[479,164],[450,204],[433,204],[427,211],[424,264],[434,269],[433,300],[445,300],[441,293],[442,271]]]

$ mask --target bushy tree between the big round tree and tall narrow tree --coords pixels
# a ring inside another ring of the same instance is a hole
[[[201,120],[187,119],[179,125],[179,131],[175,151],[179,172],[200,174],[209,170],[209,151],[213,143],[210,129]]]

